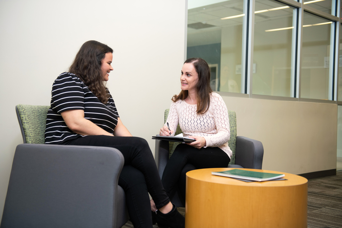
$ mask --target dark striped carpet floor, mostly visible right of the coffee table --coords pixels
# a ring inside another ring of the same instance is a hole
[[[177,209],[185,214],[184,207]],[[133,225],[128,222],[122,228]],[[308,228],[342,228],[342,172],[308,182]]]

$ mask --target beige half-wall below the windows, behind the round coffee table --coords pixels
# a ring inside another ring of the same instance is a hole
[[[303,174],[336,169],[337,105],[223,97],[237,135],[262,142],[262,168]]]

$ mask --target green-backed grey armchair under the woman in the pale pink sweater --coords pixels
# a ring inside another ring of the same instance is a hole
[[[169,114],[169,109],[164,112],[164,123]],[[264,155],[264,148],[260,141],[255,139],[236,136],[236,114],[234,111],[228,111],[229,124],[231,136],[228,141],[228,145],[233,152],[229,168],[249,168],[249,169],[261,169],[262,159]],[[179,125],[177,127],[175,135],[182,133]],[[163,175],[165,166],[171,157],[174,149],[179,142],[169,142],[165,140],[155,141],[155,161],[157,163],[160,178]],[[171,202],[176,206],[184,206],[178,193],[174,195]]]

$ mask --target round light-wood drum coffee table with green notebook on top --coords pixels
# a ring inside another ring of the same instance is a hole
[[[287,181],[242,182],[212,175],[232,168],[187,173],[186,228],[306,228],[307,180],[285,174]]]

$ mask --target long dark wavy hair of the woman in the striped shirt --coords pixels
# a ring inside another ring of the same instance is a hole
[[[113,53],[109,46],[97,41],[87,41],[81,46],[69,68],[69,72],[78,76],[104,104],[110,95],[103,80],[101,66],[102,60],[109,52]]]

